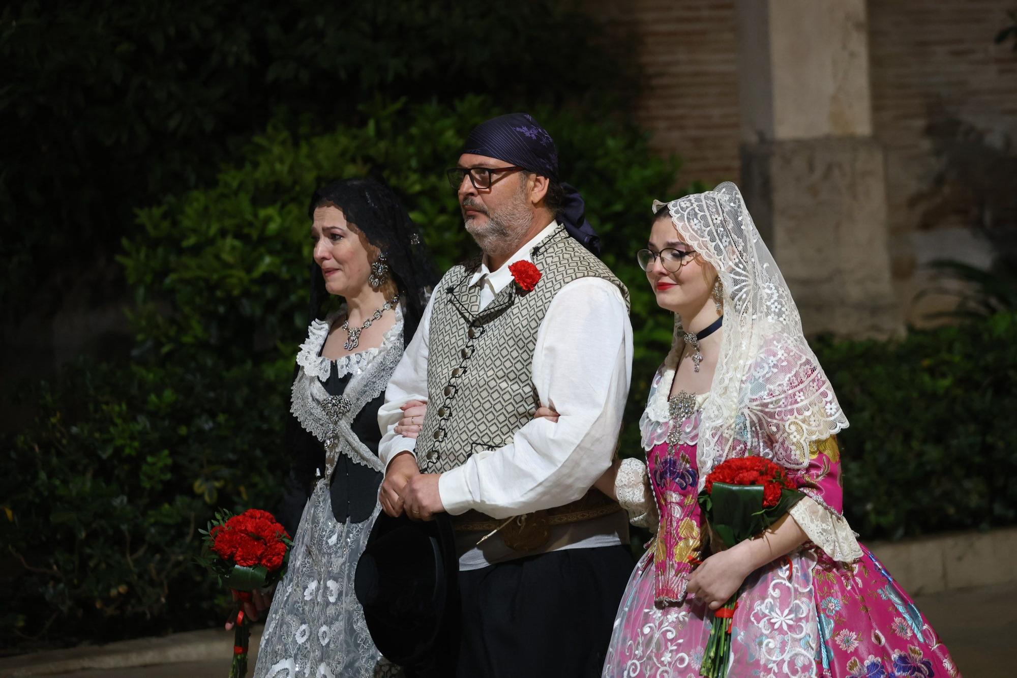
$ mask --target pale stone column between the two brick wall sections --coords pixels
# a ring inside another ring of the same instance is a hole
[[[741,187],[806,334],[900,333],[864,0],[738,0],[737,30]]]

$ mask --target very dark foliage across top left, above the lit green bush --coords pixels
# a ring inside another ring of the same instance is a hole
[[[637,81],[620,49],[551,0],[7,3],[2,314],[54,300],[54,261],[110,263],[134,208],[214,180],[271,119],[322,132],[377,98],[470,92],[603,113]]]

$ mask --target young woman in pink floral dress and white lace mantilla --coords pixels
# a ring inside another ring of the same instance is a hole
[[[613,487],[656,536],[622,598],[603,675],[698,676],[714,611],[740,589],[732,678],[959,676],[842,515],[836,434],[847,419],[737,187],[655,202],[654,212],[640,263],[675,315],[674,344],[640,421],[647,463],[626,459],[598,487]],[[718,463],[750,454],[787,468],[806,498],[721,550],[696,497]]]

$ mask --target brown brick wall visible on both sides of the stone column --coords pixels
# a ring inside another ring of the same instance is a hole
[[[835,1],[835,0],[828,0]],[[735,7],[731,0],[581,0],[609,32],[634,36],[637,116],[679,183],[738,180]],[[886,153],[895,289],[908,320],[930,283],[922,265],[983,265],[971,224],[1017,224],[1017,53],[993,39],[1015,0],[870,0],[874,135]],[[986,248],[988,247],[988,248]]]

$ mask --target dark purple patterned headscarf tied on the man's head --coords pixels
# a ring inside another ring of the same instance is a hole
[[[554,139],[529,113],[507,113],[481,122],[466,137],[463,153],[497,158],[558,181],[558,150]],[[575,187],[560,183],[565,199],[558,221],[584,247],[600,255],[600,237],[586,220],[583,196]]]

